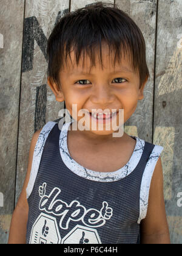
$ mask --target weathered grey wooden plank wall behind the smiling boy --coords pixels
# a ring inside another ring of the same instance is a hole
[[[83,0],[0,0],[0,243],[27,171],[33,133],[58,119],[64,103],[47,85],[47,38]],[[106,1],[108,2],[108,1]],[[125,131],[164,146],[164,196],[171,243],[182,243],[182,1],[115,0],[146,40],[150,79]]]

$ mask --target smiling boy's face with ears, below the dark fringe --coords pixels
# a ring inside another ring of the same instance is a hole
[[[92,67],[90,74],[83,74],[89,73],[90,59],[86,57],[84,69],[83,59],[76,66],[75,55],[72,51],[70,55],[74,66],[72,66],[70,59],[68,59],[68,65],[59,73],[61,89],[51,82],[49,78],[48,84],[56,96],[56,101],[65,101],[66,108],[69,110],[71,116],[74,114],[72,112],[73,104],[77,106],[77,113],[83,108],[90,113],[94,109],[99,109],[99,112],[101,112],[101,110],[104,111],[107,108],[110,110],[110,113],[112,113],[112,110],[118,111],[119,109],[123,109],[125,123],[135,112],[138,100],[143,99],[143,90],[146,82],[140,88],[140,77],[133,70],[129,59],[123,59],[122,63],[116,63],[115,68],[113,68],[107,47],[103,44],[103,69],[99,63],[98,55],[96,55],[96,65]],[[113,116],[113,118],[116,118],[117,126],[120,124],[118,114]],[[77,121],[83,117],[84,115],[77,116]],[[75,116],[73,118],[75,119]],[[96,121],[95,118],[92,118],[87,113],[85,118],[91,122]],[[103,127],[105,125],[103,124]],[[85,130],[84,132],[91,132],[95,138],[95,135],[106,135],[106,137],[110,137],[115,130],[98,130],[98,128],[92,130],[90,124],[90,130]]]

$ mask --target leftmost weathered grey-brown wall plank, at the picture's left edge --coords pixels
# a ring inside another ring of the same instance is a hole
[[[0,0],[0,6],[0,244],[2,244],[7,243],[15,199],[24,1]]]

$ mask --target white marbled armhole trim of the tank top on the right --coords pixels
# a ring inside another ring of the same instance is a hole
[[[144,169],[140,188],[140,216],[138,218],[138,224],[140,224],[142,219],[146,218],[149,201],[150,183],[158,158],[160,157],[160,154],[163,151],[163,149],[164,148],[162,146],[155,145],[146,164],[146,168]]]

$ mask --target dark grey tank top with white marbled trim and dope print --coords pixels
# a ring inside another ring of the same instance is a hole
[[[96,172],[70,156],[71,123],[59,130],[58,121],[49,121],[36,142],[27,186],[27,244],[140,243],[163,147],[132,136],[136,145],[129,162],[114,172]]]

